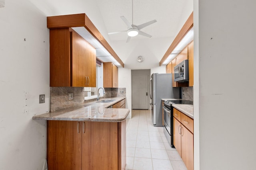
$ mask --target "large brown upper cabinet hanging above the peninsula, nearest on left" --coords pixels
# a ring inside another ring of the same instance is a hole
[[[96,50],[71,28],[50,29],[50,86],[96,87]]]

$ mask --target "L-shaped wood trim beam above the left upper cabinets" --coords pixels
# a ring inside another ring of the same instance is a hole
[[[64,16],[47,17],[47,28],[65,28],[65,27],[85,27],[94,38],[96,38],[101,45],[116,59],[116,61],[124,67],[124,63],[108,44],[106,39],[102,36],[100,31],[95,27],[92,21],[86,14],[72,14]]]

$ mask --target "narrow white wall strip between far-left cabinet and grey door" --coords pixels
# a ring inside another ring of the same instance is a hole
[[[129,118],[132,117],[132,76],[131,69],[118,67],[118,87],[126,88],[126,108],[130,109]]]

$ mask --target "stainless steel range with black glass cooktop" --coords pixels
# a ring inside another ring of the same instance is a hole
[[[164,100],[164,135],[171,147],[173,146],[173,107],[172,104],[193,104],[190,100]]]

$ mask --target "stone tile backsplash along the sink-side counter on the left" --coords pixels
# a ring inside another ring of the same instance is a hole
[[[105,98],[126,96],[126,88],[104,88]],[[121,91],[124,91],[121,93]],[[73,99],[68,100],[68,93],[73,93]],[[50,87],[50,112],[79,106],[96,99],[84,101],[85,92],[81,87]]]

